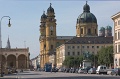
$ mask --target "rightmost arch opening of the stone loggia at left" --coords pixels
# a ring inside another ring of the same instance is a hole
[[[24,54],[18,56],[18,69],[27,68],[27,57]]]

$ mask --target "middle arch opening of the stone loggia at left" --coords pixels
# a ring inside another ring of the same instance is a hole
[[[8,55],[7,56],[7,67],[16,67],[16,56],[15,55]]]

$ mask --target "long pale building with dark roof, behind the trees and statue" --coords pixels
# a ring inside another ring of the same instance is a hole
[[[102,47],[112,46],[113,37],[74,37],[56,48],[56,65],[63,66],[68,56],[80,56],[84,53],[97,54]]]

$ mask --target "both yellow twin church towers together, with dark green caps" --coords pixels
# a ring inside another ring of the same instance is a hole
[[[55,12],[50,3],[47,14],[43,12],[40,25],[40,65],[43,68],[45,63],[52,63],[56,48],[56,19]]]

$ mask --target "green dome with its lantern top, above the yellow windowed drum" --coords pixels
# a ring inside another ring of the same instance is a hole
[[[87,3],[83,6],[83,13],[78,16],[77,23],[97,23],[97,19],[94,14],[90,13],[90,6]]]

